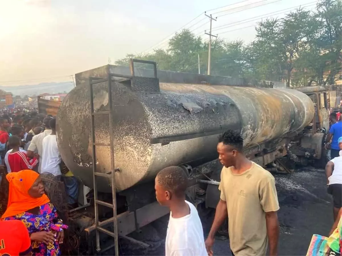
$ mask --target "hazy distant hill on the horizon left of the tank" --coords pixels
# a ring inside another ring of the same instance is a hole
[[[61,83],[40,83],[36,85],[18,85],[18,86],[0,86],[1,90],[12,93],[13,95],[20,96],[34,96],[42,93],[67,93],[74,88],[73,82],[61,82]]]

